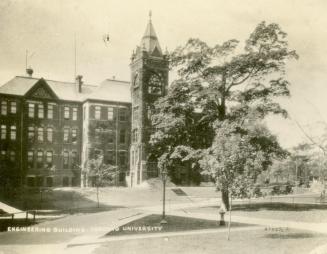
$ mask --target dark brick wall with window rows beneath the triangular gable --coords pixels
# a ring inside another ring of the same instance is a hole
[[[1,124],[7,126],[7,138],[1,140],[0,150],[15,151],[13,168],[21,176],[20,182],[30,187],[79,185],[81,103],[0,95],[0,101],[12,101],[12,98],[17,101],[17,112],[1,115]],[[65,107],[69,110],[66,118]],[[12,125],[17,126],[15,141],[10,140]],[[67,140],[64,140],[65,130]],[[10,161],[8,156],[7,161]]]

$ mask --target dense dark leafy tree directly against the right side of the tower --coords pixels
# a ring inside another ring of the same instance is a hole
[[[199,182],[197,159],[186,157],[194,150],[207,148],[214,137],[210,121],[204,119],[205,113],[197,111],[198,103],[192,99],[193,93],[193,87],[187,82],[174,82],[167,96],[156,102],[152,115],[152,126],[156,131],[150,139],[150,151],[159,163],[166,161],[170,178],[175,183],[179,183],[174,176],[180,167],[191,170],[189,184]]]

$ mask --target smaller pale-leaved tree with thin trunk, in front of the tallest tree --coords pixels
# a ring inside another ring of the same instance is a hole
[[[230,232],[232,199],[255,195],[257,177],[286,152],[262,124],[225,120],[216,125],[216,137],[212,146],[202,151],[200,165],[204,174],[215,179],[218,190],[229,193],[229,207],[222,209],[230,211]]]

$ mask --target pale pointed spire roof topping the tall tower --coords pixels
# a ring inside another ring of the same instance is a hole
[[[155,52],[159,56],[162,55],[162,50],[159,44],[159,40],[156,32],[154,31],[154,27],[152,25],[151,19],[149,20],[149,23],[145,29],[145,33],[142,37],[140,46],[142,49],[145,48],[145,50],[150,54]]]

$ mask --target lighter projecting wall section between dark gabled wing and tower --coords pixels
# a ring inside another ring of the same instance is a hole
[[[88,101],[83,108],[86,110],[83,124],[83,185],[95,185],[95,172],[87,169],[86,163],[99,152],[103,155],[104,164],[117,167],[112,184],[125,185],[129,169],[130,104]]]

